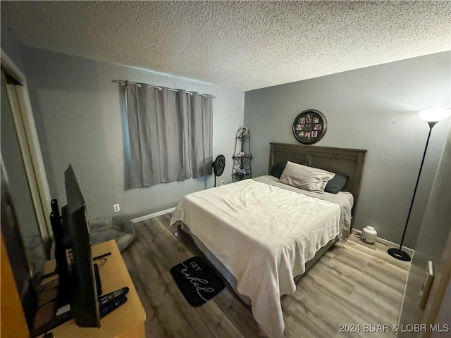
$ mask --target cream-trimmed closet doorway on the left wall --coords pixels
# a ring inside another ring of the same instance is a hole
[[[1,156],[25,237],[51,246],[50,193],[23,73],[1,53]],[[25,243],[24,243],[25,244]]]

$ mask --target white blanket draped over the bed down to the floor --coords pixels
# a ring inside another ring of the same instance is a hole
[[[171,224],[182,222],[228,268],[271,337],[284,331],[280,296],[293,278],[340,234],[340,206],[256,180],[189,194]]]

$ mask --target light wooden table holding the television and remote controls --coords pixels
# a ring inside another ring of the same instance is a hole
[[[104,318],[101,318],[101,327],[99,329],[97,329],[97,327],[78,327],[75,325],[74,320],[69,320],[58,327],[49,330],[49,332],[53,332],[55,338],[144,338],[144,320],[146,319],[146,313],[138,298],[136,289],[133,286],[116,242],[111,240],[92,246],[92,256],[94,257],[108,252],[111,252],[111,255],[106,256],[107,261],[99,270],[102,292],[103,294],[108,294],[109,292],[121,289],[121,287],[129,287],[130,291],[126,295],[128,301]],[[44,270],[52,271],[54,270],[54,266],[55,262],[49,261],[46,263]],[[51,280],[51,277],[49,277],[49,280]],[[46,283],[47,280],[43,280],[42,282]],[[45,302],[45,299],[41,300],[41,303],[43,302]],[[42,307],[43,313],[37,313],[37,321],[43,320],[46,312],[53,311],[54,306],[51,305],[52,304],[50,303],[47,311],[45,309],[47,306]]]

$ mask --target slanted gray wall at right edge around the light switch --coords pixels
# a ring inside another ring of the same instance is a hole
[[[450,126],[451,127],[451,126]],[[437,175],[433,182],[431,195],[429,196],[426,212],[424,213],[423,224],[419,233],[418,241],[416,242],[415,254],[412,259],[412,265],[409,270],[409,277],[407,279],[406,291],[404,294],[404,303],[402,304],[402,312],[400,323],[407,327],[407,324],[412,323],[426,323],[427,315],[431,310],[432,299],[435,296],[436,288],[440,277],[443,275],[443,270],[447,262],[441,262],[443,251],[450,248],[445,248],[448,236],[451,235],[451,128],[447,137],[443,155],[440,159]],[[419,308],[419,290],[423,282],[424,273],[428,261],[433,262],[435,270],[435,280],[429,295],[428,303],[426,303],[425,311]],[[448,281],[449,282],[449,281]],[[449,287],[448,287],[449,289]],[[444,299],[444,303],[448,302],[445,313],[447,313],[448,325],[450,318],[449,308],[449,294],[448,298]],[[440,323],[440,317],[438,318]],[[415,332],[405,332],[399,334],[399,337],[414,337]],[[443,337],[450,337],[449,332]]]

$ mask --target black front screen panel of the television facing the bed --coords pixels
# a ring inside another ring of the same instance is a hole
[[[73,239],[73,294],[70,310],[78,326],[100,327],[86,203],[72,165],[64,171],[64,183],[68,202],[69,228]]]

